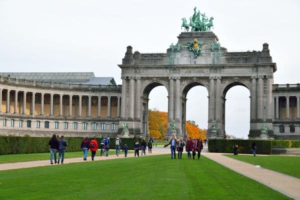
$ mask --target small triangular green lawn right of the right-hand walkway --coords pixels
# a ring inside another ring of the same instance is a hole
[[[248,162],[254,165],[260,165],[280,173],[288,174],[300,178],[300,156],[282,156],[282,155],[227,155],[228,157]]]

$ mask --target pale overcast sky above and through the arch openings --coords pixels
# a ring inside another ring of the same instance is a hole
[[[89,71],[121,84],[117,64],[126,46],[166,52],[194,6],[214,17],[221,46],[252,51],[267,42],[277,64],[274,83],[300,82],[299,0],[0,0],[0,71]],[[187,120],[200,128],[207,128],[207,95],[201,86],[187,94]],[[155,87],[149,107],[167,111],[166,96]],[[226,99],[226,132],[247,138],[249,91],[232,87]]]

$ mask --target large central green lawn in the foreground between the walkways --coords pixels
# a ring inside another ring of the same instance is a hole
[[[0,171],[1,199],[290,199],[201,156],[169,155]]]

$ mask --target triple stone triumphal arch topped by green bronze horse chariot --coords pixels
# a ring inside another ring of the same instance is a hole
[[[210,31],[213,17],[196,12],[190,23],[182,18],[176,44],[166,53],[140,53],[127,46],[121,68],[122,104],[120,124],[126,122],[129,132],[148,135],[148,96],[151,89],[163,85],[168,93],[168,130],[175,127],[176,136],[185,136],[186,94],[196,85],[208,91],[207,137],[225,135],[225,94],[229,88],[242,85],[250,93],[249,137],[259,137],[266,126],[273,135],[272,82],[276,63],[272,62],[268,44],[261,51],[228,52]],[[197,106],[197,105],[194,105]]]

